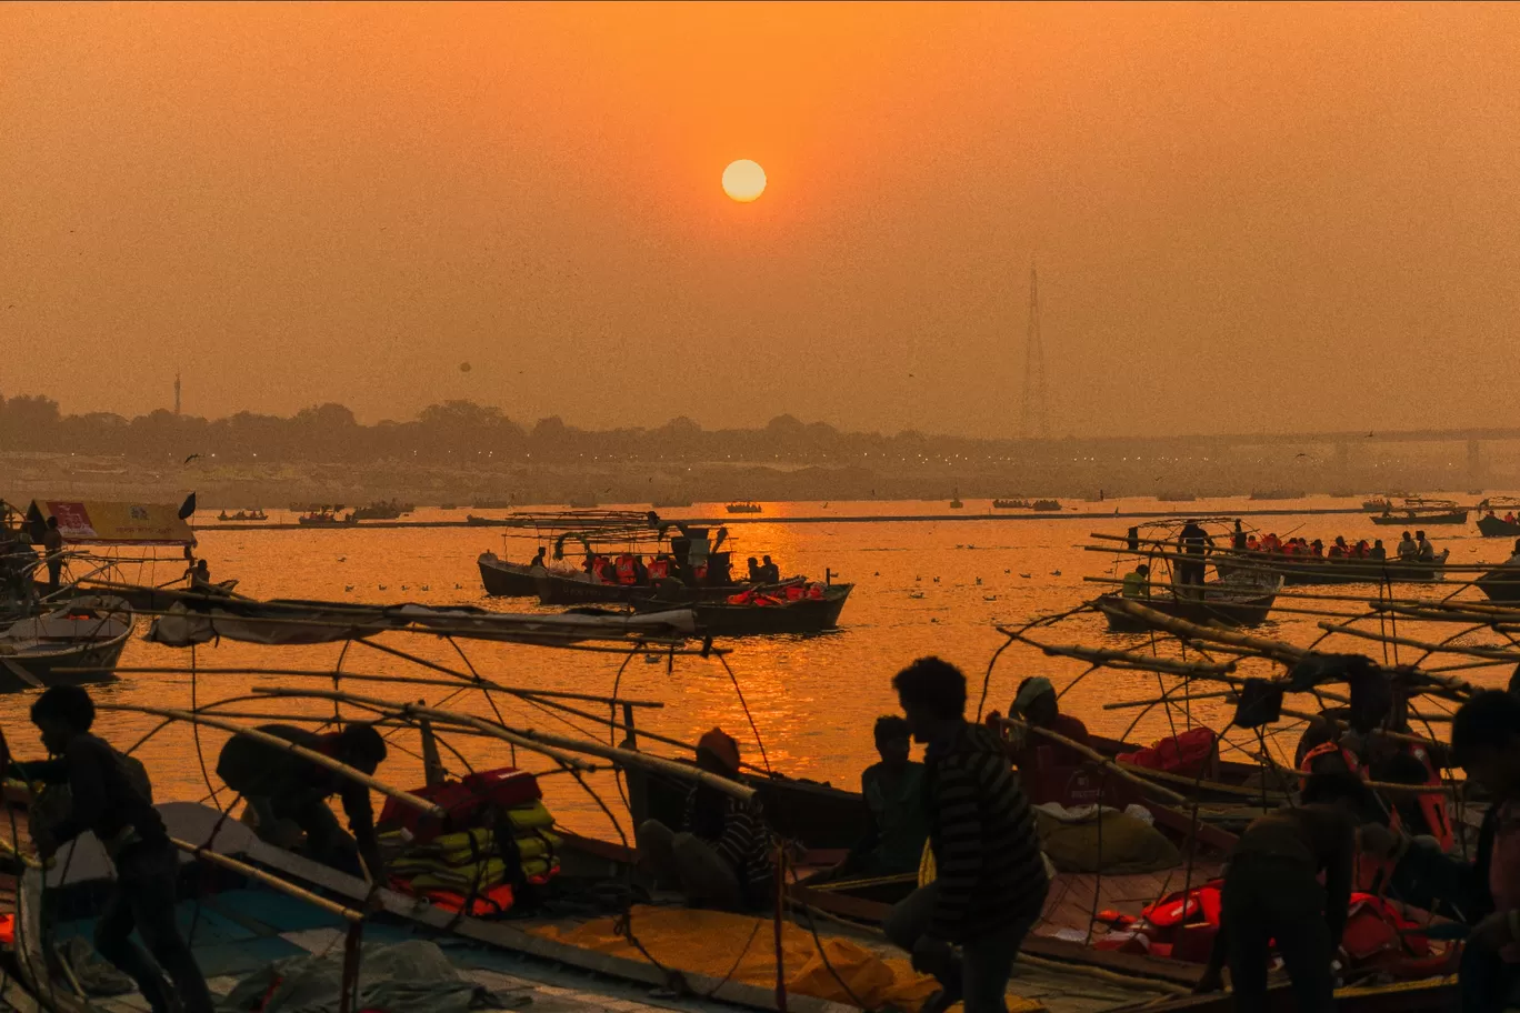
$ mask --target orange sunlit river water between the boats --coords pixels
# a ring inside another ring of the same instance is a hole
[[[1234,501],[1204,501],[1189,504],[1199,515],[1228,515],[1263,506],[1295,510],[1356,506],[1347,500],[1306,500],[1280,504]],[[968,513],[988,513],[986,501],[967,503]],[[1164,504],[1154,500],[1108,501],[1082,509],[1120,512],[1157,510]],[[784,516],[863,516],[863,515],[929,515],[945,513],[944,503],[793,503],[766,504],[766,518]],[[713,504],[698,504],[675,515],[713,516]],[[464,510],[420,510],[409,519],[461,519]],[[278,512],[272,519],[281,519]],[[210,519],[210,518],[207,518]],[[731,641],[730,667],[754,717],[765,753],[771,765],[790,775],[831,781],[857,787],[860,770],[874,762],[871,724],[877,715],[897,712],[891,690],[892,674],[923,655],[939,655],[961,665],[973,683],[973,708],[983,674],[994,653],[1006,641],[999,624],[1017,626],[1035,615],[1059,612],[1078,606],[1105,588],[1084,582],[1084,577],[1119,576],[1122,560],[1111,554],[1084,551],[1091,544],[1090,533],[1122,535],[1128,519],[979,519],[979,521],[907,521],[907,522],[816,522],[780,524],[755,522],[733,527],[733,551],[737,559],[769,553],[783,573],[807,573],[821,577],[828,568],[836,582],[851,582],[854,592],[841,618],[841,630],[809,638],[752,638]],[[1307,538],[1336,535],[1350,541],[1386,538],[1392,545],[1398,529],[1377,527],[1363,515],[1254,516],[1257,529],[1280,535],[1295,532]],[[1482,539],[1476,529],[1430,529],[1436,547],[1452,550],[1452,563],[1497,562],[1508,556],[1505,539]],[[532,542],[508,542],[511,557],[526,559]],[[424,604],[470,603],[496,611],[540,611],[523,600],[491,600],[480,588],[476,557],[483,550],[503,553],[499,529],[336,529],[336,530],[204,530],[199,533],[199,554],[210,560],[217,580],[236,577],[239,591],[254,597],[327,598],[339,601]],[[1123,568],[1126,570],[1125,563]],[[160,580],[164,579],[160,574]],[[1330,589],[1350,594],[1356,589]],[[1280,604],[1345,607],[1338,603],[1280,601]],[[1351,607],[1350,611],[1359,611]],[[1277,614],[1260,632],[1297,644],[1309,644],[1319,633],[1316,617]],[[140,620],[146,632],[146,620]],[[1113,636],[1100,618],[1075,617],[1055,632],[1043,635],[1047,642],[1082,642],[1097,647],[1143,645],[1146,638]],[[413,652],[438,664],[461,668],[456,650],[433,638],[386,635],[388,642]],[[622,656],[559,652],[535,647],[461,642],[470,665],[497,682],[538,688],[606,694],[614,683],[628,697],[661,702],[661,709],[638,712],[638,724],[684,741],[695,741],[704,731],[720,726],[739,738],[745,759],[760,762],[755,744],[734,680],[713,659],[676,658],[667,670],[664,659],[634,658],[625,665]],[[1354,647],[1339,647],[1342,650]],[[1360,650],[1377,649],[1365,644]],[[122,656],[123,667],[163,667],[179,671],[161,674],[125,674],[120,680],[93,690],[100,703],[176,706],[192,702],[251,694],[255,688],[331,688],[330,680],[261,674],[188,674],[192,662],[204,668],[301,668],[331,671],[342,664],[344,671],[368,674],[404,674],[442,677],[423,671],[418,665],[378,653],[363,645],[328,644],[319,647],[260,647],[223,642],[193,652],[158,647],[134,639]],[[622,677],[619,670],[622,667]],[[1005,652],[988,682],[988,708],[1006,709],[1024,676],[1047,674],[1058,686],[1066,686],[1082,670],[1076,662],[1052,659],[1040,652],[1015,645]],[[1263,673],[1268,674],[1268,673]],[[1506,668],[1477,670],[1474,680],[1500,683]],[[470,691],[458,694],[441,686],[398,688],[394,683],[348,682],[350,693],[394,700],[426,700],[491,717],[483,696]],[[1138,700],[1155,696],[1157,677],[1142,673],[1100,671],[1081,680],[1062,697],[1062,708],[1079,715],[1088,727],[1105,734],[1125,734],[1137,711],[1104,709],[1105,703]],[[579,735],[562,721],[547,717],[517,699],[499,696],[497,706],[508,724],[538,727],[567,735]],[[0,721],[12,750],[32,755],[36,749],[35,729],[26,718],[30,694],[0,699]],[[605,712],[599,705],[579,705]],[[315,700],[249,702],[234,709],[260,712],[331,712],[331,703]],[[1228,708],[1222,703],[1199,703],[1195,717],[1222,723]],[[608,741],[605,727],[570,718],[587,734]],[[1160,709],[1148,712],[1131,738],[1146,740],[1166,734],[1170,721]],[[103,711],[97,731],[119,747],[137,741],[158,723],[141,714]],[[137,753],[152,773],[157,796],[167,799],[202,799],[208,785],[226,800],[226,791],[216,779],[216,753],[225,735],[214,729],[199,732],[199,749],[192,731],[172,726],[150,738]],[[380,776],[401,787],[421,784],[421,762],[401,752],[415,750],[410,732],[392,738],[397,749]],[[508,749],[494,741],[448,737],[476,768],[505,765]],[[669,750],[666,750],[669,752]],[[202,773],[202,758],[208,775]],[[445,762],[451,756],[445,753]],[[454,768],[462,764],[451,762]],[[540,768],[541,764],[526,764]],[[606,778],[593,778],[593,787],[617,808],[616,785]],[[567,778],[546,779],[550,805],[575,829],[611,834],[605,816],[594,802]]]

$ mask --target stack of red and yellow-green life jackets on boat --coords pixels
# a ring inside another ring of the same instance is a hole
[[[505,914],[526,887],[559,872],[561,840],[538,779],[526,770],[483,770],[413,794],[441,805],[442,819],[386,800],[382,846],[392,885],[448,911]]]

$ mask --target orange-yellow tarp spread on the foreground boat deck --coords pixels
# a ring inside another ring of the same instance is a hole
[[[638,949],[614,931],[613,919],[597,919],[568,931],[553,925],[532,931],[581,949],[644,960]],[[771,919],[724,911],[635,907],[632,931],[651,955],[666,967],[713,978],[728,977],[731,981],[762,989],[775,987],[775,929]],[[915,972],[906,957],[883,960],[848,939],[824,933],[819,933],[819,939],[834,972],[866,1007],[892,1005],[915,1013],[938,989],[935,980]],[[787,993],[854,1004],[850,993],[824,966],[813,934],[790,922],[781,923],[781,966],[786,969]],[[1008,1008],[1009,1013],[1044,1010],[1040,1002],[1014,995],[1008,996]]]

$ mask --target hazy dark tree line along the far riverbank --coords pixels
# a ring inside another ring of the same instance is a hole
[[[763,428],[704,430],[681,416],[658,428],[581,430],[561,418],[524,427],[500,409],[445,401],[409,422],[363,425],[340,404],[302,409],[293,416],[239,412],[222,419],[158,409],[123,418],[109,412],[64,415],[41,395],[0,396],[0,450],[76,453],[170,462],[216,454],[230,462],[366,463],[530,463],[530,462],[790,462],[866,463],[894,460],[988,460],[1012,453],[1011,442],[841,433],[824,422],[790,415]]]

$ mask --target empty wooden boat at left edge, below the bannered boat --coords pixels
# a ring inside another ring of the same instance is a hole
[[[81,597],[0,633],[0,693],[114,679],[137,617],[123,598]],[[88,671],[67,671],[71,668]]]

